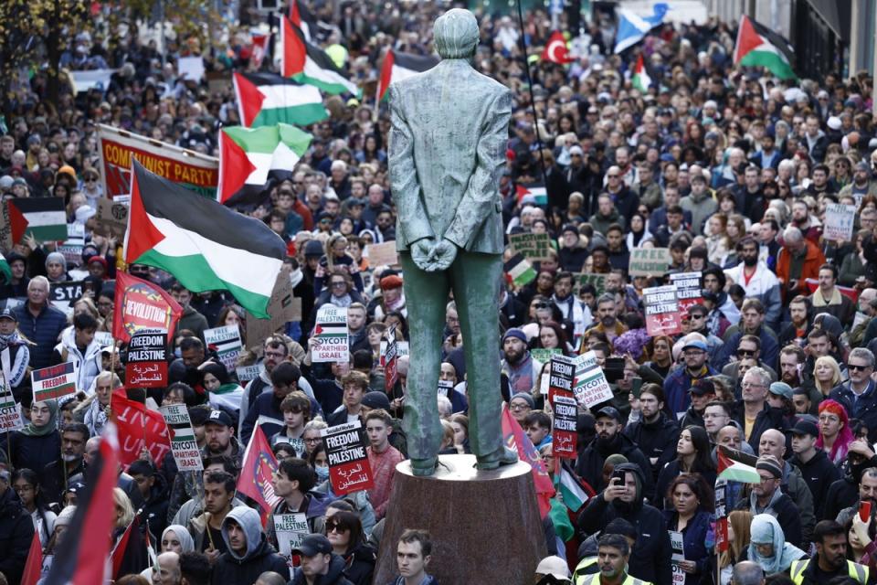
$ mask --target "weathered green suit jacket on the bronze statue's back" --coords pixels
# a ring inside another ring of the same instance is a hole
[[[390,85],[390,189],[396,250],[446,238],[502,254],[499,173],[512,93],[462,59]]]

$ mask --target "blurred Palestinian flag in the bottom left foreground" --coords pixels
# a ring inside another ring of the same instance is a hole
[[[55,551],[45,585],[89,585],[110,580],[111,539],[106,536],[112,533],[116,513],[108,503],[112,502],[112,489],[118,481],[119,441],[115,424],[110,421],[101,435],[98,455],[85,470],[85,489],[77,498],[69,534]]]

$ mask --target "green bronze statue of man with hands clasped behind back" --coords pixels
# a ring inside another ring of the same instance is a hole
[[[434,472],[442,438],[437,392],[449,291],[460,315],[478,467],[517,461],[502,442],[497,294],[503,248],[498,186],[512,94],[470,64],[479,40],[472,13],[449,10],[433,33],[439,64],[389,88],[390,186],[410,324],[403,424],[413,472],[420,475]]]

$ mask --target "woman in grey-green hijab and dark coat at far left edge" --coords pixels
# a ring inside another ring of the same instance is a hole
[[[8,437],[8,439],[7,439]],[[5,444],[9,441],[8,446]],[[30,422],[21,431],[5,434],[0,443],[8,449],[16,469],[43,469],[61,457],[61,435],[58,433],[58,401],[46,400],[30,405]]]

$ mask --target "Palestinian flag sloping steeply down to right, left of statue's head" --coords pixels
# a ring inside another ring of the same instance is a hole
[[[362,90],[347,79],[347,74],[338,69],[332,58],[309,42],[301,28],[293,25],[286,16],[280,28],[280,48],[280,73],[283,77],[308,83],[326,93],[362,95]]]

